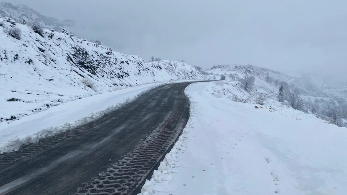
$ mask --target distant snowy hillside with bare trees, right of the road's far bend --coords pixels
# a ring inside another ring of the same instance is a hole
[[[284,73],[256,67],[253,65],[218,65],[210,70],[204,70],[208,73],[226,75],[229,85],[238,87],[241,91],[239,80],[246,74],[255,78],[255,87],[253,90],[245,92],[245,95],[258,96],[262,94],[266,98],[277,99],[281,82],[286,86],[286,91],[295,91],[304,100],[306,113],[315,114],[318,117],[326,118],[332,109],[337,109],[339,117],[347,119],[347,98],[344,91],[346,86],[342,82],[335,83],[332,87],[328,86],[327,79],[319,79],[315,76],[291,77]],[[266,79],[268,78],[268,79]],[[323,85],[322,85],[323,84]],[[330,91],[329,91],[330,90]],[[339,91],[340,93],[337,93]],[[345,120],[344,119],[344,120]],[[337,124],[337,123],[335,123]],[[345,126],[345,123],[338,125]]]

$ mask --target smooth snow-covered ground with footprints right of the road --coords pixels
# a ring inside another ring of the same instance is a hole
[[[191,117],[142,195],[347,194],[346,128],[231,101],[242,92],[225,83],[188,86]]]

